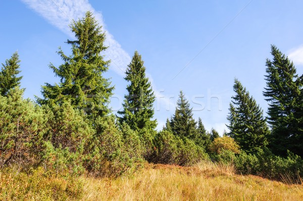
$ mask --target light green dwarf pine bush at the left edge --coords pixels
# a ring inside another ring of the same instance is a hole
[[[22,99],[23,91],[16,87],[0,95],[0,168],[39,163],[45,118],[39,106]]]

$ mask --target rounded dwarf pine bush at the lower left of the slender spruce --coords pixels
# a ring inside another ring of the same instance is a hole
[[[115,121],[113,115],[95,120],[96,132],[85,162],[85,168],[94,176],[116,177],[133,172],[142,162],[138,136],[124,124],[120,130]]]

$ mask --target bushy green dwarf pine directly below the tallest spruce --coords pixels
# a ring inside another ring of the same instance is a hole
[[[48,117],[42,153],[44,167],[56,175],[83,172],[83,159],[88,155],[94,130],[68,101],[46,106],[44,111]]]

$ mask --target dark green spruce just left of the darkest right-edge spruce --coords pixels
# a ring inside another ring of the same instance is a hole
[[[256,148],[264,148],[268,144],[269,128],[263,110],[237,79],[233,90],[236,95],[231,97],[233,100],[227,117],[230,122],[227,125],[230,129],[228,135],[244,151],[253,153]]]

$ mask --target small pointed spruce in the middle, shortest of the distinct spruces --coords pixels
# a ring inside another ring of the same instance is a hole
[[[196,138],[196,122],[192,115],[192,108],[190,108],[189,102],[186,100],[183,92],[180,91],[177,108],[171,120],[174,135],[191,140]]]

